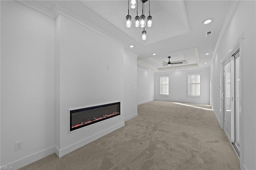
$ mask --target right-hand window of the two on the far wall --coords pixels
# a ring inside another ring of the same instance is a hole
[[[200,96],[200,74],[188,74],[188,96]]]

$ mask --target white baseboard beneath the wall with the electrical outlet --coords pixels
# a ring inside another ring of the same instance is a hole
[[[10,164],[4,165],[4,166],[13,167],[14,169],[19,169],[19,168],[22,168],[23,166],[31,164],[32,162],[40,160],[40,159],[42,159],[46,156],[49,156],[50,154],[54,154],[54,153],[55,153],[55,147],[52,146],[50,148],[41,150],[39,152],[36,152],[34,154],[26,156],[25,158],[21,158],[19,160],[16,160],[16,161],[14,161]]]

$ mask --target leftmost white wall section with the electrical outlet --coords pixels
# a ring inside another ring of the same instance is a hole
[[[54,19],[1,1],[1,166],[52,153],[54,120]]]

